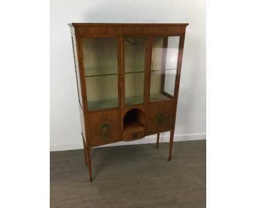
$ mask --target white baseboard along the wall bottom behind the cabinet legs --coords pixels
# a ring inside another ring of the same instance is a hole
[[[168,135],[161,136],[159,142],[169,142],[170,137]],[[181,142],[181,141],[190,141],[190,140],[202,140],[206,139],[206,133],[193,133],[193,134],[181,134],[174,135],[173,142]],[[156,142],[156,134],[152,136],[145,137],[143,139],[134,140],[131,142],[117,142],[112,144],[106,144],[102,146],[98,146],[98,148],[102,148],[105,146],[120,146],[120,145],[132,145],[132,144],[149,144]],[[50,145],[50,151],[62,151],[62,150],[77,150],[83,149],[83,142],[79,143],[69,143],[69,144],[53,144]]]

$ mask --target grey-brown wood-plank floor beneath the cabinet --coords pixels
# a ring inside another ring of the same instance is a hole
[[[50,152],[50,207],[206,207],[206,140]]]

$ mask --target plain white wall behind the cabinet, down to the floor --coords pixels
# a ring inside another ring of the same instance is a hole
[[[72,42],[67,23],[189,23],[186,30],[175,140],[206,139],[205,0],[50,0],[51,151],[83,148]],[[162,133],[160,142],[167,142]],[[155,142],[155,136],[135,142]]]

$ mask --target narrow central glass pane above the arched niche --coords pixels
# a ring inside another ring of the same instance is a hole
[[[144,101],[146,37],[125,38],[125,105]]]

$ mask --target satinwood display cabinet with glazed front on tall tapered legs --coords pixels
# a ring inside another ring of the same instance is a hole
[[[187,23],[70,23],[85,163],[90,149],[170,131]]]

